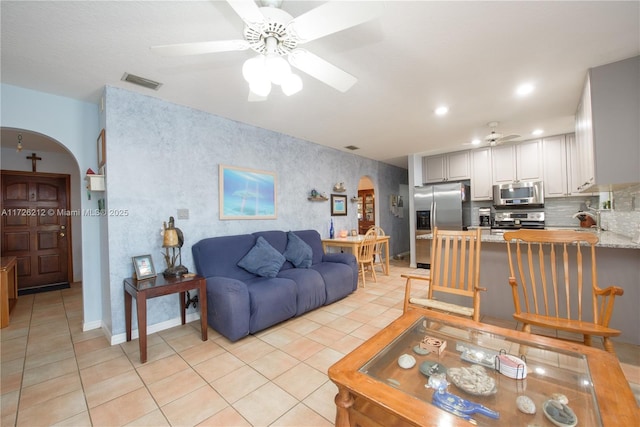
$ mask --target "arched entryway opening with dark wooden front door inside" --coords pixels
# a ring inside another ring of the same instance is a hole
[[[2,218],[3,256],[18,259],[19,294],[82,280],[81,184],[75,158],[58,141],[37,132],[3,127],[0,137],[2,208],[42,213]]]

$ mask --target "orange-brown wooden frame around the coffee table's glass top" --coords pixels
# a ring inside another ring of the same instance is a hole
[[[454,327],[477,329],[517,340],[524,345],[541,345],[584,355],[603,425],[635,425],[640,419],[633,392],[618,359],[612,354],[578,343],[476,323],[433,311],[412,310],[329,368],[329,378],[338,387],[335,398],[336,426],[469,426],[468,421],[359,371],[422,316],[430,320],[442,320]],[[541,410],[539,407],[538,411]]]

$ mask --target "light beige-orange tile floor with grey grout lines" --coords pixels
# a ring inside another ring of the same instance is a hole
[[[82,331],[80,284],[20,297],[0,332],[0,425],[333,425],[327,369],[401,315],[409,271],[394,261],[377,283],[235,343],[212,329],[201,341],[197,321],[151,334],[145,364],[137,340],[111,346],[102,330]],[[637,392],[639,347],[616,352]]]

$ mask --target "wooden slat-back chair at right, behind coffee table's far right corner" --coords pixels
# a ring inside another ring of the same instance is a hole
[[[604,348],[614,353],[610,338],[620,331],[609,328],[609,321],[615,297],[624,291],[598,287],[598,236],[584,231],[519,230],[506,232],[503,238],[513,317],[522,322],[522,330],[531,332],[535,325],[571,332],[581,335],[586,345],[591,345],[592,335],[601,336]]]

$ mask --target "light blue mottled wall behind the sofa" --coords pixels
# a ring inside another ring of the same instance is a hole
[[[193,271],[191,246],[205,237],[275,229],[328,236],[330,204],[308,201],[310,190],[331,194],[344,182],[351,198],[366,175],[375,185],[378,223],[392,236],[391,253],[409,250],[408,218],[388,207],[389,196],[407,184],[406,170],[123,89],[107,87],[105,94],[107,208],[128,213],[107,218],[112,334],[124,332],[122,280],[131,275],[131,257],[151,254],[156,271],[165,268],[160,230],[169,216],[184,232],[182,261]],[[277,219],[220,220],[220,164],[276,172]],[[177,219],[181,208],[188,220]],[[348,215],[334,223],[337,230],[357,228],[356,205],[348,202]],[[176,298],[151,300],[148,323],[176,318]]]

